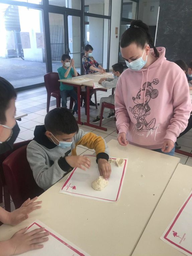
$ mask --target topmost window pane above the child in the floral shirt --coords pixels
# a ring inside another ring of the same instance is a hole
[[[109,15],[109,0],[85,0],[85,12]]]

